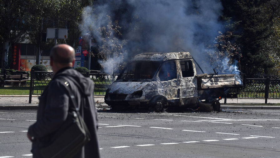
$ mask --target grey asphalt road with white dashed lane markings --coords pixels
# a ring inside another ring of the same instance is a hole
[[[280,110],[99,111],[101,157],[280,157]],[[0,110],[0,158],[32,157],[36,110]]]

